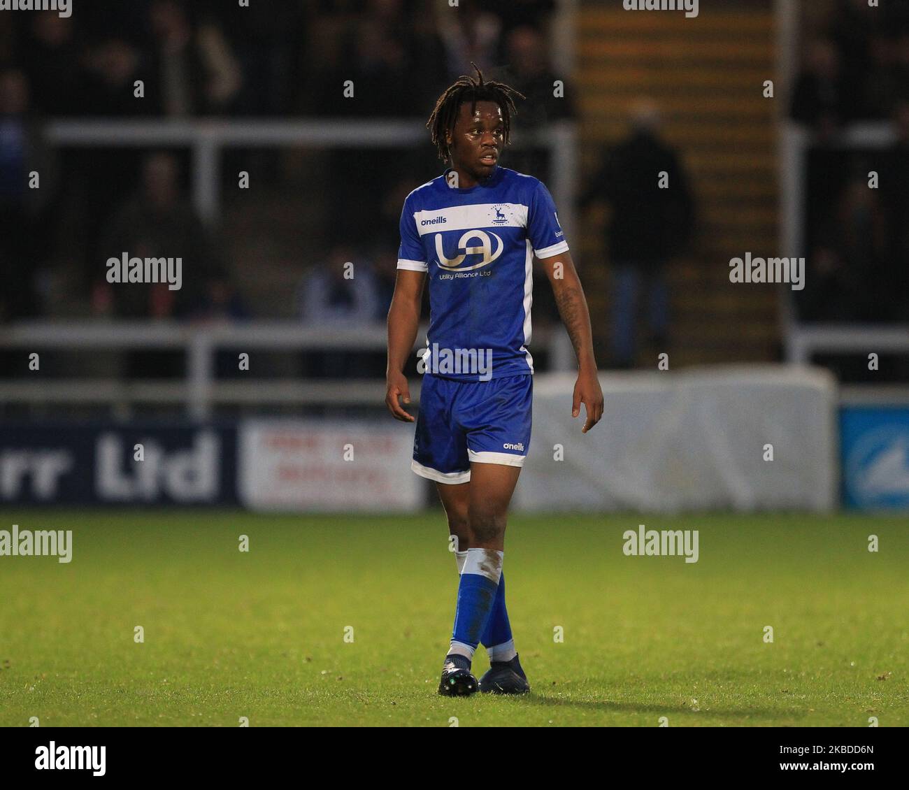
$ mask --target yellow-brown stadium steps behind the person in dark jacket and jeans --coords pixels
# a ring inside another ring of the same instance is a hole
[[[599,164],[604,145],[624,137],[632,101],[649,95],[663,111],[664,138],[691,180],[696,241],[669,270],[671,365],[774,359],[780,288],[733,286],[728,277],[729,260],[745,252],[785,255],[778,249],[779,107],[763,95],[764,80],[776,77],[770,2],[686,19],[682,12],[628,12],[621,4],[589,0],[576,29],[582,172]],[[604,360],[611,315],[608,215],[608,209],[584,215],[576,244]],[[655,365],[654,349],[642,344],[638,361]]]

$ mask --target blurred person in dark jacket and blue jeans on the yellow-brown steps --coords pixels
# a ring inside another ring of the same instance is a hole
[[[660,115],[649,100],[638,100],[633,131],[604,156],[604,165],[581,196],[612,205],[607,245],[613,265],[612,353],[616,367],[631,367],[639,292],[644,287],[654,344],[668,339],[669,291],[665,268],[692,234],[694,205],[684,168],[658,136]],[[660,173],[668,188],[660,188]]]

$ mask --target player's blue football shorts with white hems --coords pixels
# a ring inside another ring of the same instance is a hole
[[[411,469],[467,483],[471,463],[523,466],[530,447],[533,375],[455,381],[425,374]]]

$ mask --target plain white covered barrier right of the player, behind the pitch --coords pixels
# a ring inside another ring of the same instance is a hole
[[[603,420],[582,435],[574,375],[534,376],[521,510],[811,510],[837,504],[836,385],[780,365],[600,374]],[[772,445],[773,460],[769,457]],[[558,448],[564,459],[554,460]]]

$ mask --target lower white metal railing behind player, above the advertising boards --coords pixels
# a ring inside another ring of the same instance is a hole
[[[418,338],[425,337],[421,327]],[[561,326],[534,329],[534,347],[545,348],[550,367],[566,369],[574,358],[568,335]],[[418,340],[414,348],[422,347]],[[112,404],[128,415],[135,403],[185,404],[197,420],[212,416],[216,404],[242,405],[382,405],[382,379],[262,378],[250,371],[251,380],[225,381],[215,376],[215,354],[230,348],[238,352],[335,351],[385,352],[385,325],[355,328],[314,328],[294,321],[261,321],[243,325],[185,325],[170,321],[44,322],[27,321],[0,328],[0,348],[24,355],[44,350],[88,352],[172,349],[186,354],[185,380],[135,380],[118,378],[20,378],[0,381],[0,405]],[[419,386],[411,395],[419,398]]]

